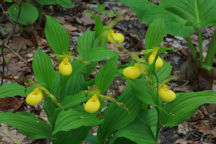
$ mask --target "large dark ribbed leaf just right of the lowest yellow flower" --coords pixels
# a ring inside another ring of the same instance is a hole
[[[131,123],[136,118],[141,107],[141,102],[137,99],[137,95],[134,94],[130,84],[127,85],[121,96],[117,98],[117,101],[124,103],[129,112],[114,103],[110,104],[103,113],[104,122],[99,129],[99,132],[101,132],[98,136],[99,142],[104,141],[113,132]]]

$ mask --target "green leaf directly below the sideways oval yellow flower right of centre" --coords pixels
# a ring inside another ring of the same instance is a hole
[[[156,105],[154,102],[154,91],[144,78],[127,80],[127,82],[132,86],[137,99],[145,104]]]

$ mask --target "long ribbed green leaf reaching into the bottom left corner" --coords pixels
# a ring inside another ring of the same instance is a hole
[[[11,125],[31,138],[41,139],[51,136],[51,127],[30,113],[0,112],[0,123]]]

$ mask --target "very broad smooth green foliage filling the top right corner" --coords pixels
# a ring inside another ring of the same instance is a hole
[[[199,26],[210,26],[216,21],[215,0],[163,0],[160,5],[147,0],[121,0],[145,23],[163,18],[166,32],[190,36]]]

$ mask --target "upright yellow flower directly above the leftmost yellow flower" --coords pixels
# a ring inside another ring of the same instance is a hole
[[[59,71],[64,76],[69,76],[72,73],[72,65],[68,58],[64,58],[59,64]]]

